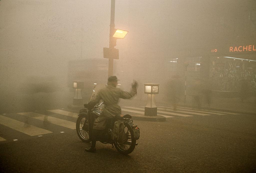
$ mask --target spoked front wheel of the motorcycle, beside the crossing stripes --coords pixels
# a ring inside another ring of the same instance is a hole
[[[83,142],[90,142],[89,139],[89,126],[88,126],[88,116],[87,114],[82,114],[78,116],[76,123],[77,135]]]

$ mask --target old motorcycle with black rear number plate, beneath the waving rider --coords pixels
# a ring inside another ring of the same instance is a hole
[[[104,102],[101,104],[96,104],[93,109],[81,109],[78,114],[76,122],[76,130],[78,137],[83,142],[91,142],[89,134],[93,127],[94,120],[101,114]],[[99,141],[104,144],[112,144],[112,148],[115,147],[116,150],[122,154],[130,154],[136,145],[136,140],[140,138],[140,129],[137,125],[133,124],[131,115],[126,114],[121,119],[112,118],[109,119],[108,125],[104,130],[101,130]],[[115,121],[123,121],[124,132],[127,139],[125,142],[119,142],[111,138],[113,132]]]

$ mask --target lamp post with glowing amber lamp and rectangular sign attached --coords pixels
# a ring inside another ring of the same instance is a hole
[[[119,51],[115,49],[116,39],[124,38],[128,31],[115,29],[115,0],[111,0],[110,12],[110,30],[109,30],[109,48],[103,48],[103,57],[109,59],[108,76],[113,76],[114,59],[119,59]]]

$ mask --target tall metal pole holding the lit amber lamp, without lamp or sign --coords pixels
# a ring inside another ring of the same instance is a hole
[[[110,12],[110,30],[109,30],[109,48],[115,47],[115,39],[112,37],[115,31],[115,0],[111,0],[111,12]],[[109,58],[109,76],[113,76],[113,57]]]

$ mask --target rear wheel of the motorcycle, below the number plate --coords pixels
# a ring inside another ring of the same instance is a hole
[[[130,125],[124,124],[124,131],[128,139],[124,143],[115,142],[115,148],[118,152],[122,154],[130,154],[136,145],[136,139],[134,138],[133,129]]]

